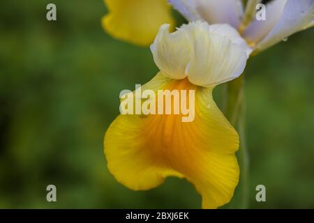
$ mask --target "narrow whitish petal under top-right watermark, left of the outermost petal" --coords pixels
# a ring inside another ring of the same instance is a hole
[[[302,1],[302,0],[301,0]],[[266,20],[253,20],[244,31],[243,36],[249,43],[258,43],[274,28],[283,14],[287,0],[275,0],[266,5]]]

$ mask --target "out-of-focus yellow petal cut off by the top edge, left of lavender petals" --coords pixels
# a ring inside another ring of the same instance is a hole
[[[166,0],[104,0],[109,14],[102,20],[107,33],[135,45],[150,45],[165,23],[174,24]]]

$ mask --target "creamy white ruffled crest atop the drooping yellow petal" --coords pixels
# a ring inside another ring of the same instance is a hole
[[[188,76],[198,86],[215,86],[239,77],[246,66],[248,47],[228,24],[184,24],[174,33],[161,26],[151,46],[158,68],[172,79]]]

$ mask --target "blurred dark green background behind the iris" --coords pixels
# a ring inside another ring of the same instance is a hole
[[[107,171],[103,135],[119,92],[158,69],[149,48],[103,31],[105,13],[101,0],[0,2],[0,208],[200,208],[186,180],[134,192]],[[297,33],[246,69],[250,208],[314,208],[313,38]],[[46,201],[49,184],[57,203]],[[258,184],[267,202],[255,201]]]

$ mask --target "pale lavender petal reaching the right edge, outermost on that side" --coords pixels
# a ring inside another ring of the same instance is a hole
[[[313,26],[313,17],[314,0],[287,0],[280,20],[274,29],[258,43],[256,51],[271,47],[293,33]]]

